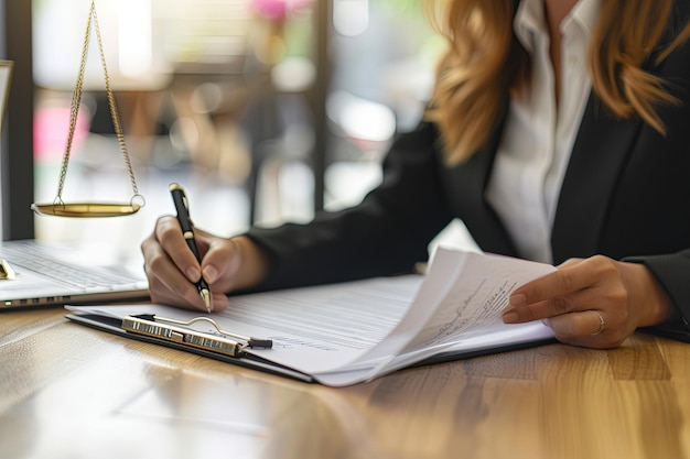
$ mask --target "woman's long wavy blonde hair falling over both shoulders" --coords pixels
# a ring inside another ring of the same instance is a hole
[[[425,117],[439,125],[446,160],[456,164],[488,140],[511,91],[528,83],[529,57],[513,33],[514,0],[424,1],[449,44]],[[653,51],[656,63],[664,61],[690,35],[690,24],[670,24],[672,10],[673,0],[602,0],[589,56],[593,90],[608,109],[638,116],[660,133],[655,107],[676,99],[642,66]],[[669,26],[676,36],[661,44]]]

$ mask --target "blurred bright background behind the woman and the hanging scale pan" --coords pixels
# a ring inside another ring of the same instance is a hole
[[[35,237],[94,238],[136,252],[155,219],[173,212],[171,182],[187,189],[196,226],[220,236],[358,203],[379,183],[393,135],[419,122],[432,85],[441,43],[420,1],[97,0],[110,86],[145,206],[116,219],[31,216]],[[31,201],[56,196],[89,7],[31,2]],[[63,199],[129,201],[90,32]],[[4,124],[10,135],[13,107]],[[3,156],[7,149],[4,142]],[[2,179],[12,174],[2,171]],[[3,190],[12,193],[7,183]],[[7,223],[3,239],[17,239]]]

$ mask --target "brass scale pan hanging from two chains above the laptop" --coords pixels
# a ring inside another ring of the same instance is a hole
[[[62,194],[65,186],[65,178],[67,176],[67,165],[69,163],[69,153],[72,151],[72,144],[74,140],[74,133],[77,124],[77,116],[79,112],[79,106],[82,102],[82,91],[84,87],[84,69],[86,67],[86,57],[88,43],[90,39],[91,20],[96,31],[96,37],[98,40],[98,51],[100,53],[100,62],[103,64],[106,91],[108,95],[108,106],[110,108],[110,118],[115,128],[115,133],[120,145],[120,152],[129,173],[129,178],[132,187],[132,197],[129,203],[69,203],[63,201]],[[60,170],[60,184],[57,186],[57,196],[52,204],[32,204],[32,210],[40,216],[56,216],[56,217],[72,217],[72,218],[95,218],[95,217],[120,217],[136,214],[145,204],[142,195],[139,194],[137,187],[137,181],[134,178],[134,172],[132,164],[127,152],[127,145],[125,144],[125,135],[122,134],[122,127],[115,103],[115,97],[112,96],[112,89],[110,88],[110,77],[108,75],[108,68],[106,66],[106,56],[103,48],[103,40],[100,37],[100,28],[98,26],[98,18],[96,17],[96,1],[91,0],[91,6],[86,23],[86,35],[84,37],[84,46],[82,48],[82,62],[79,65],[79,73],[77,81],[74,87],[74,94],[72,95],[72,106],[69,112],[69,132],[67,135],[67,143],[65,146],[65,153],[63,155],[62,166]]]

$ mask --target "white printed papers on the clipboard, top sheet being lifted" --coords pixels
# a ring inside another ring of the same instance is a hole
[[[520,285],[553,266],[439,249],[425,275],[380,277],[230,297],[212,314],[223,330],[273,340],[247,349],[334,386],[368,381],[439,354],[529,345],[553,337],[541,321],[505,325],[502,312]],[[154,314],[191,320],[200,313],[163,305],[67,306],[123,318]],[[200,331],[215,332],[212,327]]]

